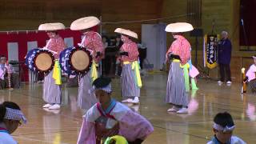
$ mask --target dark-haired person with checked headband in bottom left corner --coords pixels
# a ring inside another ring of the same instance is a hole
[[[0,143],[17,144],[18,142],[10,134],[14,133],[22,123],[26,123],[26,118],[16,103],[0,104]]]

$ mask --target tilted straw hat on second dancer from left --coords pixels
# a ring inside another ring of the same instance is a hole
[[[85,30],[97,26],[99,23],[99,19],[94,16],[79,18],[71,23],[70,30]]]

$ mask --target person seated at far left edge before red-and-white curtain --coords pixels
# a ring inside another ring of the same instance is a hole
[[[15,73],[14,67],[8,64],[6,56],[0,57],[0,89],[18,88],[19,77]]]

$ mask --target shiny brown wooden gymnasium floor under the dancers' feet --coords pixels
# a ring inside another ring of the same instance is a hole
[[[121,99],[120,82],[113,80],[114,98]],[[168,114],[164,102],[166,74],[143,78],[141,104],[131,106],[154,125],[154,134],[146,144],[206,143],[213,136],[214,115],[229,111],[236,124],[235,135],[247,143],[256,143],[256,96],[240,94],[240,84],[218,86],[217,82],[200,79],[200,90],[190,94],[189,114]],[[82,110],[77,107],[77,88],[63,86],[63,106],[60,111],[42,109],[42,85],[23,85],[20,90],[1,90],[0,101],[13,101],[21,106],[29,122],[15,131],[21,144],[76,143],[82,122]],[[193,93],[193,94],[192,94]]]

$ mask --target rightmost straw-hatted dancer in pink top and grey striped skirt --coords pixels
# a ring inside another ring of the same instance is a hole
[[[190,60],[190,42],[182,36],[182,33],[193,30],[193,26],[185,22],[171,23],[166,26],[166,32],[171,32],[175,41],[166,53],[166,60],[170,61],[170,70],[166,87],[166,103],[173,107],[168,112],[178,114],[187,113],[189,76],[187,63]],[[188,86],[186,86],[188,85]]]

